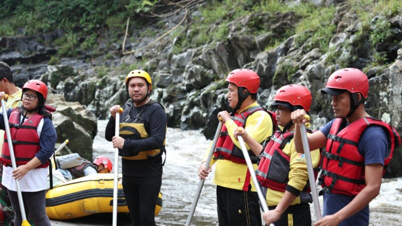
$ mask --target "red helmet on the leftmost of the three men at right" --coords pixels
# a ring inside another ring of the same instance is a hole
[[[257,93],[260,87],[260,77],[250,69],[236,69],[229,73],[226,81],[239,87],[245,87],[250,93]]]

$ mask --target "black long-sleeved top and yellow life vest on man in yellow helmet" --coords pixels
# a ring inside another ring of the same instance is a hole
[[[125,139],[119,149],[122,173],[131,177],[162,175],[162,153],[165,152],[167,117],[163,106],[155,100],[136,107],[132,100],[123,106],[119,136]],[[111,117],[105,138],[112,141],[116,120]]]

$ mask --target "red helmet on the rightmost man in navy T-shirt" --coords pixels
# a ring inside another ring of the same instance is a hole
[[[328,78],[327,84],[325,85],[325,88],[321,90],[321,92],[330,95],[339,95],[344,92],[342,89],[351,93],[360,92],[364,98],[367,98],[367,75],[356,68],[344,68],[337,70]]]

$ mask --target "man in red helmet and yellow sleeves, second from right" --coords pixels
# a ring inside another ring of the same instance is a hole
[[[278,89],[273,100],[271,105],[276,107],[279,130],[265,147],[250,138],[242,127],[235,130],[235,137],[241,135],[253,151],[263,150],[256,174],[269,208],[263,214],[265,223],[311,226],[309,202],[313,200],[308,189],[309,174],[305,155],[298,154],[293,143],[294,125],[290,114],[299,108],[309,111],[312,96],[304,86],[285,85]],[[317,167],[319,149],[312,151],[311,156],[313,166]]]

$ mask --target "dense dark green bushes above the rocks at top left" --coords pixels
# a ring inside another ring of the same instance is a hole
[[[0,37],[34,35],[62,29],[60,56],[74,56],[78,48],[96,48],[101,31],[121,37],[129,16],[149,12],[156,0],[3,0]],[[136,21],[141,24],[141,20]],[[17,32],[18,31],[18,32]],[[84,37],[82,39],[81,37]]]

